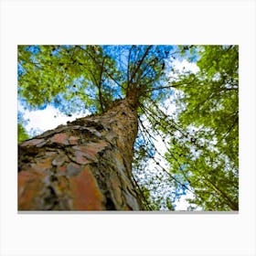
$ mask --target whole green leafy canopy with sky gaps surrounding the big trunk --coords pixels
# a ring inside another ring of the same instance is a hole
[[[199,71],[176,69],[177,59]],[[133,178],[145,207],[174,210],[189,194],[188,209],[237,210],[238,69],[238,46],[18,46],[18,98],[67,115],[133,98]]]

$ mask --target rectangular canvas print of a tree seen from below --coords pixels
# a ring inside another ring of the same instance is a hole
[[[238,211],[239,46],[19,45],[19,211]]]

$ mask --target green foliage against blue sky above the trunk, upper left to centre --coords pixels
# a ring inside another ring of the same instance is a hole
[[[67,114],[86,108],[104,112],[128,94],[142,103],[152,94],[146,90],[164,76],[169,51],[168,46],[19,46],[18,95],[29,109],[51,103]]]

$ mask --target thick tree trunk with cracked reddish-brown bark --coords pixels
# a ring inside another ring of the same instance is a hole
[[[19,144],[18,209],[143,209],[132,177],[137,127],[126,99]]]

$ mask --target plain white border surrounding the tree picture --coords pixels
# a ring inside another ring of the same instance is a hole
[[[1,2],[1,255],[256,255],[255,2]],[[239,44],[240,213],[17,214],[17,44]]]

